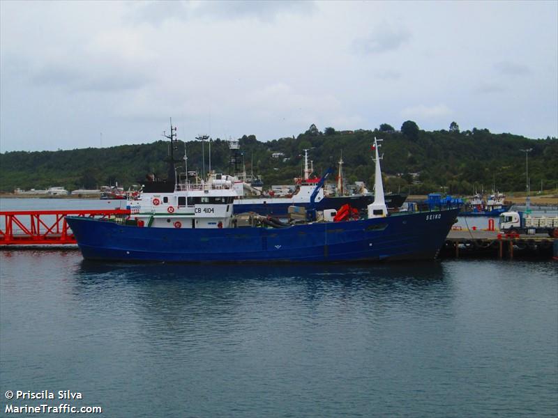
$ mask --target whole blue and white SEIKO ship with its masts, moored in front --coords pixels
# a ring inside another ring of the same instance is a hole
[[[377,141],[375,200],[364,217],[334,222],[336,210],[284,223],[255,213],[234,215],[232,176],[184,181],[174,169],[176,127],[165,180],[154,179],[131,215],[110,220],[67,217],[82,255],[103,261],[269,262],[383,261],[435,258],[458,209],[390,214],[384,200]],[[293,206],[296,208],[296,206]]]

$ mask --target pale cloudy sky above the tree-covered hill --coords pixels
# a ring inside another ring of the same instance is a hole
[[[0,1],[0,151],[320,130],[558,137],[558,2]]]

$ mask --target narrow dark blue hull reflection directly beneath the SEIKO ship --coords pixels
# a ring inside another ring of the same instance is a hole
[[[400,285],[414,287],[428,287],[444,281],[444,268],[439,261],[416,261],[415,263],[398,264],[322,264],[304,263],[288,265],[285,263],[262,263],[254,268],[254,265],[236,264],[234,269],[230,265],[213,264],[208,270],[207,265],[188,264],[185,265],[167,263],[103,263],[99,261],[80,261],[76,271],[76,280],[84,285],[98,284],[103,279],[103,284],[112,281],[116,285],[130,283],[134,286],[155,286],[160,288],[162,282],[194,285],[196,288],[204,286],[217,288],[238,288],[246,284],[254,288],[255,281],[259,284],[308,284],[310,287],[337,288],[340,284],[355,287],[375,288],[377,286],[393,286],[401,290]],[[107,286],[112,288],[111,285]],[[333,290],[333,289],[332,289]],[[215,292],[211,291],[211,297]]]

